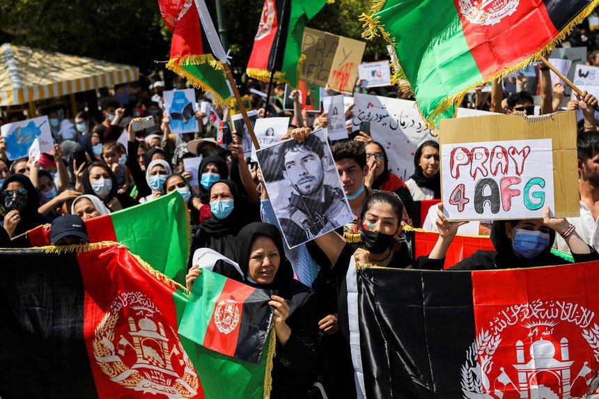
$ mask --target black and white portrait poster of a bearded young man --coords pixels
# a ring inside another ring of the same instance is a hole
[[[326,130],[256,151],[272,208],[289,248],[354,219]]]

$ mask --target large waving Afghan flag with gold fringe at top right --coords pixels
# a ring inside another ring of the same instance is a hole
[[[589,16],[596,0],[376,0],[362,15],[395,50],[424,120],[454,118],[469,89],[537,61]],[[414,34],[417,34],[417,40]]]

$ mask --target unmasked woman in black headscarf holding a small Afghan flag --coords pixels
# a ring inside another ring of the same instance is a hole
[[[306,398],[313,383],[318,340],[316,294],[293,279],[285,258],[279,229],[272,224],[252,223],[237,237],[237,260],[242,270],[223,264],[214,271],[255,288],[277,290],[269,302],[277,333],[272,368],[272,398]],[[196,267],[187,274],[187,288],[200,274]]]

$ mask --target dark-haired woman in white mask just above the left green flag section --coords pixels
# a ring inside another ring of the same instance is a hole
[[[102,203],[115,212],[137,205],[138,202],[127,194],[118,194],[116,177],[104,162],[92,162],[84,171],[82,177],[84,194],[92,194],[102,200]]]

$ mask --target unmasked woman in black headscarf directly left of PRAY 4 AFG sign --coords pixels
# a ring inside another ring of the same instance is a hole
[[[405,182],[414,201],[441,198],[439,173],[439,143],[429,140],[422,143],[414,154],[414,174]]]

